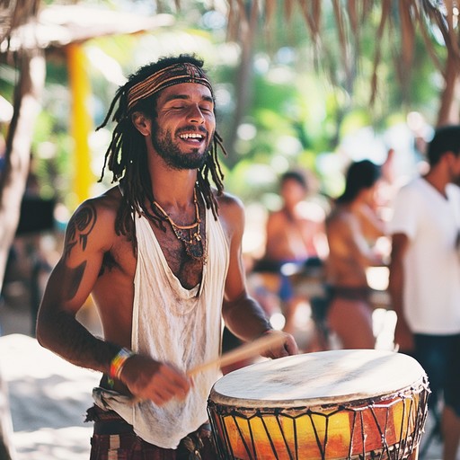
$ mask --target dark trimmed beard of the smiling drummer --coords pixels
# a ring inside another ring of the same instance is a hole
[[[180,146],[174,143],[173,134],[170,130],[165,131],[156,127],[155,131],[152,132],[152,144],[164,162],[175,170],[200,169],[208,158],[209,143],[202,152],[199,151],[199,148],[192,148],[191,152],[184,154]]]

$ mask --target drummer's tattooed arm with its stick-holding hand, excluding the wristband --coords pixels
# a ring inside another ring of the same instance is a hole
[[[80,367],[110,375],[111,362],[120,344],[95,337],[75,315],[91,294],[102,268],[105,252],[117,238],[116,212],[93,200],[75,211],[66,230],[64,251],[52,271],[40,305],[37,339],[40,344]],[[190,379],[180,370],[136,354],[126,361],[119,381],[138,399],[158,405],[173,397],[183,399]]]

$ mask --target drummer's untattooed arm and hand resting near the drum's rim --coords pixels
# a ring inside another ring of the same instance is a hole
[[[222,314],[227,328],[242,341],[253,341],[264,334],[279,334],[283,340],[279,346],[262,353],[267,358],[281,358],[298,353],[294,338],[275,331],[261,305],[249,296],[246,288],[242,257],[244,210],[241,202],[226,196],[220,207],[230,245],[230,261],[226,277]]]

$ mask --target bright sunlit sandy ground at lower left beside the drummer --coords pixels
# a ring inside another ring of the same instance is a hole
[[[72,366],[26,335],[0,338],[2,376],[9,386],[13,445],[18,460],[89,458],[96,373]]]

